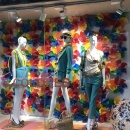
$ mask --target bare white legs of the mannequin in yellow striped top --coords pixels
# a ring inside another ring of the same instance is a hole
[[[23,87],[15,88],[13,119],[17,124],[19,124],[19,116],[20,116],[23,92],[24,92]]]

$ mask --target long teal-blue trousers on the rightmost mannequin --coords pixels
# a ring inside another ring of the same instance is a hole
[[[85,91],[89,100],[89,114],[88,118],[94,119],[96,116],[96,98],[99,88],[101,86],[102,75],[84,77]]]

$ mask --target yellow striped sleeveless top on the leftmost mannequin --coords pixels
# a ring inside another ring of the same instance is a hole
[[[27,66],[27,59],[26,59],[26,55],[24,52],[15,49],[12,51],[12,53],[15,55],[16,67]],[[18,55],[19,55],[19,58],[18,58]],[[20,65],[20,61],[21,61],[22,65]]]

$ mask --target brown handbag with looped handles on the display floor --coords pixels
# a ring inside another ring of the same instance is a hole
[[[69,116],[68,112],[68,116],[63,117],[64,112],[66,111],[61,113],[59,118],[62,118],[56,122],[57,128],[58,130],[73,130],[73,119],[71,116]]]

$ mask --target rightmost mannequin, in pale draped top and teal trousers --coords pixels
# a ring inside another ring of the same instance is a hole
[[[86,94],[89,100],[89,114],[87,122],[87,130],[92,130],[97,126],[95,121],[96,116],[96,97],[101,87],[105,88],[105,68],[103,63],[103,52],[96,49],[97,36],[89,36],[90,48],[84,54],[84,61],[81,60],[81,65],[84,64],[83,71],[83,83],[85,86]],[[102,66],[102,69],[99,67]],[[103,82],[103,83],[102,83]]]

